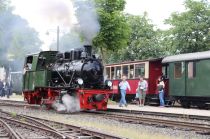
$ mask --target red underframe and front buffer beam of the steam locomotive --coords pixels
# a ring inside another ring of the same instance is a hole
[[[75,91],[80,102],[80,109],[107,110],[107,103],[111,90],[77,89]],[[50,108],[57,97],[60,96],[61,90],[52,88],[37,88],[34,92],[24,91],[23,94],[24,99],[27,100],[29,104],[45,105]],[[102,94],[104,96],[102,101],[90,101],[90,98],[92,98],[93,95],[98,94]]]

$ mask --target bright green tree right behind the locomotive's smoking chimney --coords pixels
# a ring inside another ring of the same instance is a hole
[[[128,44],[130,28],[123,14],[125,0],[95,0],[100,23],[100,32],[93,40],[107,61],[109,51],[118,51]]]

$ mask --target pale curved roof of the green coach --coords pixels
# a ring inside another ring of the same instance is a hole
[[[167,56],[162,60],[162,63],[170,63],[170,62],[177,62],[177,61],[190,61],[190,60],[199,60],[199,59],[208,59],[208,58],[210,58],[210,51],[204,51],[204,52]]]

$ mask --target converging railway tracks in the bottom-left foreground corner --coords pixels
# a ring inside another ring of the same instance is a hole
[[[122,137],[26,115],[0,111],[0,137],[14,139],[121,139]]]

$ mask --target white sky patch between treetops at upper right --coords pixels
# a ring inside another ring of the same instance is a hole
[[[134,15],[143,15],[146,11],[148,17],[158,28],[166,29],[164,19],[167,19],[172,12],[183,12],[184,0],[126,0],[125,12]]]

